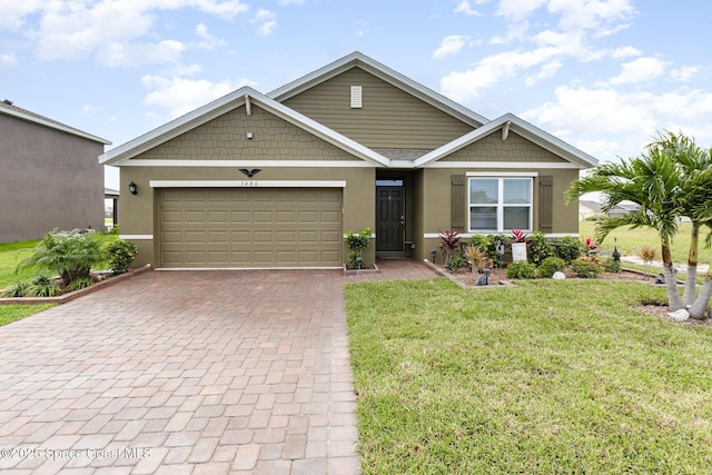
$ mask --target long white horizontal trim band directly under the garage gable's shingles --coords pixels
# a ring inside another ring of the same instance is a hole
[[[128,160],[123,167],[202,167],[202,168],[374,168],[364,160]]]

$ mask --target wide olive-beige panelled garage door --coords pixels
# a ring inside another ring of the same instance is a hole
[[[162,267],[339,267],[340,188],[166,188]]]

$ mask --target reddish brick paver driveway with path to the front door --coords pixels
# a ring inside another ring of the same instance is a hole
[[[0,472],[359,473],[344,283],[435,276],[382,269],[154,271],[0,327]]]

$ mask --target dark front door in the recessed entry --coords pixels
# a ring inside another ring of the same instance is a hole
[[[376,181],[376,250],[403,253],[405,187],[402,179]]]

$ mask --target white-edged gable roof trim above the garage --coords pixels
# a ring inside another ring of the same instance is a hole
[[[164,126],[158,127],[134,140],[130,140],[115,149],[107,151],[99,157],[99,162],[105,165],[121,165],[132,157],[147,151],[160,144],[164,144],[188,130],[195,129],[230,110],[238,107],[257,103],[275,116],[291,122],[293,125],[314,133],[327,142],[349,152],[374,165],[387,166],[388,159],[373,149],[365,147],[346,136],[323,126],[316,120],[297,112],[296,110],[283,106],[269,97],[256,91],[250,87],[243,87],[212,102],[202,106],[191,112],[186,113]]]

